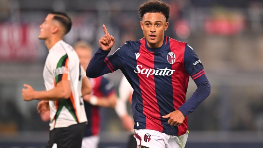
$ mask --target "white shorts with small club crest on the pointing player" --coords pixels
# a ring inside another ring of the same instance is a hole
[[[188,132],[181,136],[167,135],[155,130],[135,130],[134,137],[137,141],[137,148],[146,146],[149,148],[184,148]]]

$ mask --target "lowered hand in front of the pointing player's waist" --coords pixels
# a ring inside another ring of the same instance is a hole
[[[179,110],[173,111],[165,116],[162,116],[162,118],[169,118],[169,117],[170,119],[168,120],[168,124],[172,126],[180,126],[184,121],[184,115]]]

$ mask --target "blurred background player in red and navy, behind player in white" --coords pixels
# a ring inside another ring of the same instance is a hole
[[[79,41],[74,45],[80,64],[86,70],[91,58],[92,48],[87,42]],[[92,84],[92,94],[84,95],[85,112],[88,119],[85,135],[82,140],[81,148],[98,148],[100,131],[100,107],[114,108],[117,95],[113,88],[113,82],[110,82],[104,76],[90,78]]]

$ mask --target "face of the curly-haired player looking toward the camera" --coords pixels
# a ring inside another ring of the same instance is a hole
[[[140,21],[143,35],[151,48],[161,47],[164,39],[164,31],[169,23],[162,13],[146,13]]]

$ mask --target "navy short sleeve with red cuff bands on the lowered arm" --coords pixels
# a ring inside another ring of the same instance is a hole
[[[205,74],[201,60],[188,44],[185,45],[184,68],[193,80]]]

